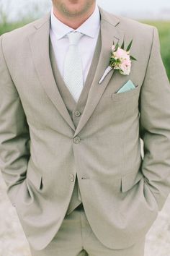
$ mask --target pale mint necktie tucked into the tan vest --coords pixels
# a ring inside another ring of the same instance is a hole
[[[64,61],[63,80],[77,102],[83,89],[83,70],[78,43],[83,34],[79,32],[68,33],[69,48]]]

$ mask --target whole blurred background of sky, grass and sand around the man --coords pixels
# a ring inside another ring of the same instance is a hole
[[[161,56],[170,80],[170,1],[97,0],[105,10],[158,28]],[[51,0],[0,0],[0,35],[42,17]],[[146,237],[145,256],[170,255],[170,196]],[[30,256],[17,213],[6,196],[0,173],[0,256]]]

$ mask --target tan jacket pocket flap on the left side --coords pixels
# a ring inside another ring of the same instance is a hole
[[[42,175],[37,171],[29,168],[27,170],[27,179],[37,188],[42,188]]]

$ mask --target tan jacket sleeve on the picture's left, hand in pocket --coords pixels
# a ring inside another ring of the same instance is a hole
[[[0,169],[14,203],[30,158],[30,133],[22,103],[10,77],[0,37]]]

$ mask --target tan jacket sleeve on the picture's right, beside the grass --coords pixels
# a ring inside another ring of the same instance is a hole
[[[140,92],[140,137],[144,143],[144,179],[161,210],[170,191],[170,85],[155,27]]]

